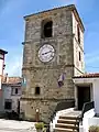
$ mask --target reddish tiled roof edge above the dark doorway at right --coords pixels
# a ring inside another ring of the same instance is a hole
[[[80,76],[75,76],[73,78],[95,78],[95,77],[99,77],[99,73],[82,74]]]

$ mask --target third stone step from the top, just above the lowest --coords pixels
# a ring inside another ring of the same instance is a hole
[[[65,123],[56,123],[55,128],[63,128],[63,129],[73,129],[73,130],[78,130],[79,127],[75,124],[65,124]]]

